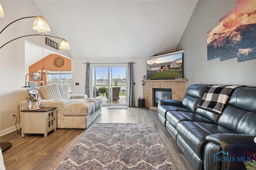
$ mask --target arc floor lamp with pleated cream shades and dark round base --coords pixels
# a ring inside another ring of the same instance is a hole
[[[2,7],[2,4],[0,2],[0,19],[3,19],[5,16],[5,13],[4,13],[4,9]],[[21,36],[21,37],[17,37],[15,39],[12,39],[10,41],[8,41],[7,43],[5,43],[4,45],[2,45],[0,47],[0,49],[2,47],[4,47],[5,45],[7,45],[8,43],[16,40],[16,39],[19,39],[19,38],[22,38],[22,37],[28,37],[28,36],[35,36],[35,35],[41,35],[41,36],[49,36],[49,37],[54,37],[54,36],[51,36],[51,35],[47,35],[48,33],[50,33],[51,29],[50,29],[50,26],[48,25],[48,23],[46,22],[46,20],[42,17],[42,16],[31,16],[31,17],[24,17],[24,18],[20,18],[18,20],[15,20],[15,21],[12,21],[11,23],[9,23],[6,27],[4,27],[4,29],[2,29],[2,31],[0,32],[0,34],[8,27],[10,26],[12,23],[16,22],[16,21],[19,21],[19,20],[23,20],[23,19],[26,19],[26,18],[35,18],[34,20],[34,24],[32,26],[32,29],[34,29],[38,34],[32,34],[32,35],[24,35],[24,36]],[[58,38],[58,39],[62,39],[60,41],[60,45],[59,45],[59,49],[62,50],[62,51],[68,51],[70,49],[70,46],[68,44],[68,41],[66,41],[66,39],[63,39],[63,38],[59,38],[59,37],[54,37],[54,38]],[[5,150],[8,150],[12,147],[12,143],[10,142],[2,142],[0,143],[0,147],[1,147],[1,150],[2,152],[4,152]]]

